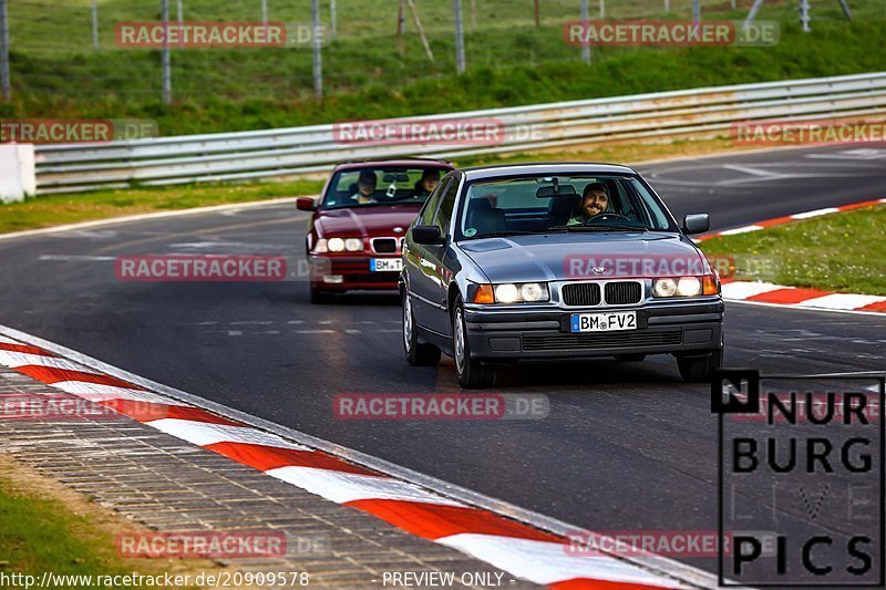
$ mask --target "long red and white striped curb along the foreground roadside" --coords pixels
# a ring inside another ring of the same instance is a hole
[[[0,335],[2,365],[311,494],[457,549],[517,578],[557,589],[717,586],[715,577],[658,556],[630,559],[569,556],[563,535],[163,395],[152,391],[164,387],[159,384],[158,387],[143,386],[140,383],[147,382],[143,377],[30,334],[6,327],[0,327],[0,334],[3,334]],[[96,370],[96,365],[103,370]],[[207,405],[214,406],[212,402]]]

